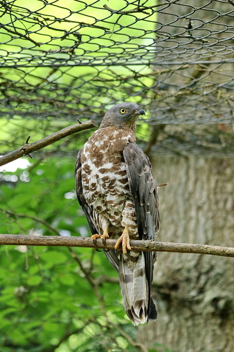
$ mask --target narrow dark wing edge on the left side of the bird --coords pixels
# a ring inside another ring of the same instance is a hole
[[[89,206],[86,203],[86,200],[83,195],[83,189],[82,189],[81,162],[80,162],[80,157],[82,152],[83,152],[83,149],[80,149],[77,155],[76,165],[75,165],[76,194],[77,194],[78,202],[84,211],[87,221],[89,222],[91,232],[94,235],[94,234],[98,234],[98,230],[93,218],[93,209],[91,208],[91,206]]]

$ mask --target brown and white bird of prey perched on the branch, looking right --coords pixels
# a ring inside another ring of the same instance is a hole
[[[147,155],[136,144],[136,121],[145,115],[135,103],[112,106],[100,127],[79,150],[76,193],[92,232],[92,240],[117,239],[105,255],[119,272],[128,318],[134,325],[156,321],[151,297],[155,252],[137,252],[130,240],[157,240],[157,183]],[[122,248],[121,248],[122,244]]]

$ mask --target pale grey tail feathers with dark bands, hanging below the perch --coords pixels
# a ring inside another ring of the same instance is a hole
[[[131,262],[122,255],[119,262],[120,286],[124,298],[125,311],[134,325],[149,319],[156,320],[157,311],[152,298],[149,305],[149,287],[145,276],[144,256],[138,254]],[[136,258],[135,258],[136,259]]]

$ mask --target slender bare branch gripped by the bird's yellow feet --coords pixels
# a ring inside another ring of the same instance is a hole
[[[116,240],[107,239],[103,244],[101,239],[97,239],[96,244],[90,237],[62,237],[62,236],[24,236],[24,235],[3,235],[0,234],[0,244],[27,245],[27,246],[67,246],[86,248],[114,249]],[[234,248],[212,246],[207,244],[172,243],[154,241],[131,241],[132,249],[144,250],[147,252],[178,252],[210,254],[223,257],[234,257]]]

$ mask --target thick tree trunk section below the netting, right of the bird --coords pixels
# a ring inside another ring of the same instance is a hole
[[[152,161],[158,183],[169,183],[159,189],[159,240],[233,246],[233,159]],[[159,253],[153,289],[159,316],[139,328],[139,341],[176,352],[232,352],[233,269],[232,258]]]

